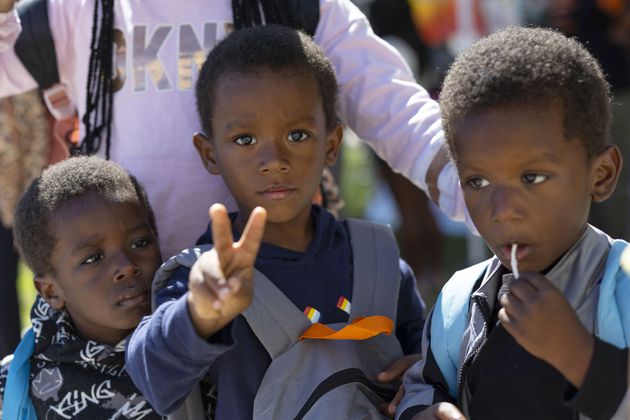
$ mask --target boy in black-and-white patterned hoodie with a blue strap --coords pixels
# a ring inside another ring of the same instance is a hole
[[[162,262],[142,186],[97,157],[52,165],[20,199],[15,242],[38,296],[2,362],[2,417],[161,418],[125,370]]]

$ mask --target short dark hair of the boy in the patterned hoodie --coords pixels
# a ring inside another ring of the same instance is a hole
[[[50,225],[55,214],[91,192],[112,202],[137,203],[145,208],[157,236],[153,210],[144,188],[133,175],[96,156],[71,157],[47,168],[18,203],[13,226],[15,245],[36,275],[54,273],[50,255],[57,238],[52,236]]]

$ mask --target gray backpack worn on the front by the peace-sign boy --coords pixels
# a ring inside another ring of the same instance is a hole
[[[254,419],[383,418],[379,406],[391,401],[397,384],[376,375],[403,356],[395,336],[400,268],[389,227],[348,220],[353,253],[352,307],[348,323],[382,315],[394,321],[391,335],[365,340],[304,339],[313,324],[264,274],[255,270],[254,301],[243,313],[272,362],[254,400]],[[186,250],[160,268],[153,296],[180,265],[191,267],[210,246]],[[203,418],[198,390],[170,418]]]

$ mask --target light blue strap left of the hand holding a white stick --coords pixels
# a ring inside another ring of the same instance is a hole
[[[444,285],[431,317],[431,351],[448,384],[448,393],[457,398],[457,372],[462,337],[466,328],[470,296],[490,260],[457,271]]]

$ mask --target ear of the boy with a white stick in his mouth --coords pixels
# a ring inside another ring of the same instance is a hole
[[[591,197],[594,203],[601,203],[612,195],[619,180],[623,159],[619,148],[609,144],[606,149],[593,159],[591,174],[593,185]]]

